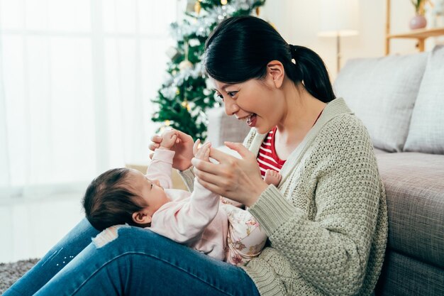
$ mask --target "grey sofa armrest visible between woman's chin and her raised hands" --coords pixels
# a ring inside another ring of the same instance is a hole
[[[223,107],[216,107],[206,111],[208,116],[208,133],[206,141],[211,146],[223,146],[224,141],[242,143],[250,131],[245,121],[239,121],[235,116],[228,116]]]

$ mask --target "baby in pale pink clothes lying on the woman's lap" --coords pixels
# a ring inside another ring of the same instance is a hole
[[[177,131],[162,133],[146,175],[117,168],[96,177],[83,199],[87,219],[98,230],[116,224],[145,227],[218,260],[247,263],[265,246],[265,231],[241,204],[213,194],[197,180],[192,193],[172,189],[170,148],[176,141]],[[198,145],[195,157],[209,161],[210,144]],[[267,175],[269,182],[279,183],[277,172]]]

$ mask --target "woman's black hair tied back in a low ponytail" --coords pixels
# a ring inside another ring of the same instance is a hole
[[[220,82],[235,84],[262,79],[272,60],[282,62],[287,77],[296,85],[304,84],[316,99],[325,103],[335,99],[321,57],[304,46],[289,45],[270,23],[260,18],[227,18],[205,43],[206,73]]]

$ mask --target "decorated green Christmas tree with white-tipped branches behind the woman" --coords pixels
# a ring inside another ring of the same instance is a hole
[[[152,100],[158,110],[152,121],[162,128],[171,126],[196,140],[206,138],[205,111],[218,106],[214,92],[207,87],[203,55],[205,40],[218,23],[231,16],[258,15],[265,0],[189,0],[184,20],[172,23],[177,45],[167,51],[167,80]]]

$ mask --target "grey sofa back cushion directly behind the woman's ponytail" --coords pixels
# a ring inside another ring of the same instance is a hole
[[[335,80],[335,93],[367,127],[373,145],[401,151],[406,142],[427,53],[347,62]]]

